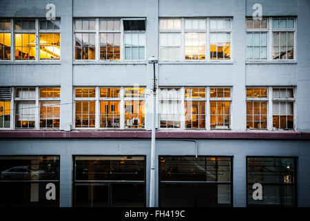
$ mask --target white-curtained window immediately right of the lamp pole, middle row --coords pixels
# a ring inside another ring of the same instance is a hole
[[[180,88],[162,88],[160,93],[160,105],[159,119],[161,128],[180,128]]]

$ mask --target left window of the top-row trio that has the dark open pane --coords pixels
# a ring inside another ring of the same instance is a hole
[[[96,30],[94,20],[75,20],[75,59],[96,58]]]

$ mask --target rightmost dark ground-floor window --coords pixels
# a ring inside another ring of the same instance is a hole
[[[253,184],[262,184],[254,200]],[[247,157],[247,206],[296,206],[296,158]]]

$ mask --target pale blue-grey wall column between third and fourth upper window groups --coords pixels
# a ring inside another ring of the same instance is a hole
[[[245,131],[247,110],[245,105],[245,0],[234,0],[234,19],[231,32],[233,67],[232,130]]]

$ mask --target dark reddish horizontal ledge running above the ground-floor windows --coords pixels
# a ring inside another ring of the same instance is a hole
[[[151,131],[0,131],[1,139],[150,139]],[[310,132],[297,131],[156,131],[158,139],[262,139],[310,140]]]

